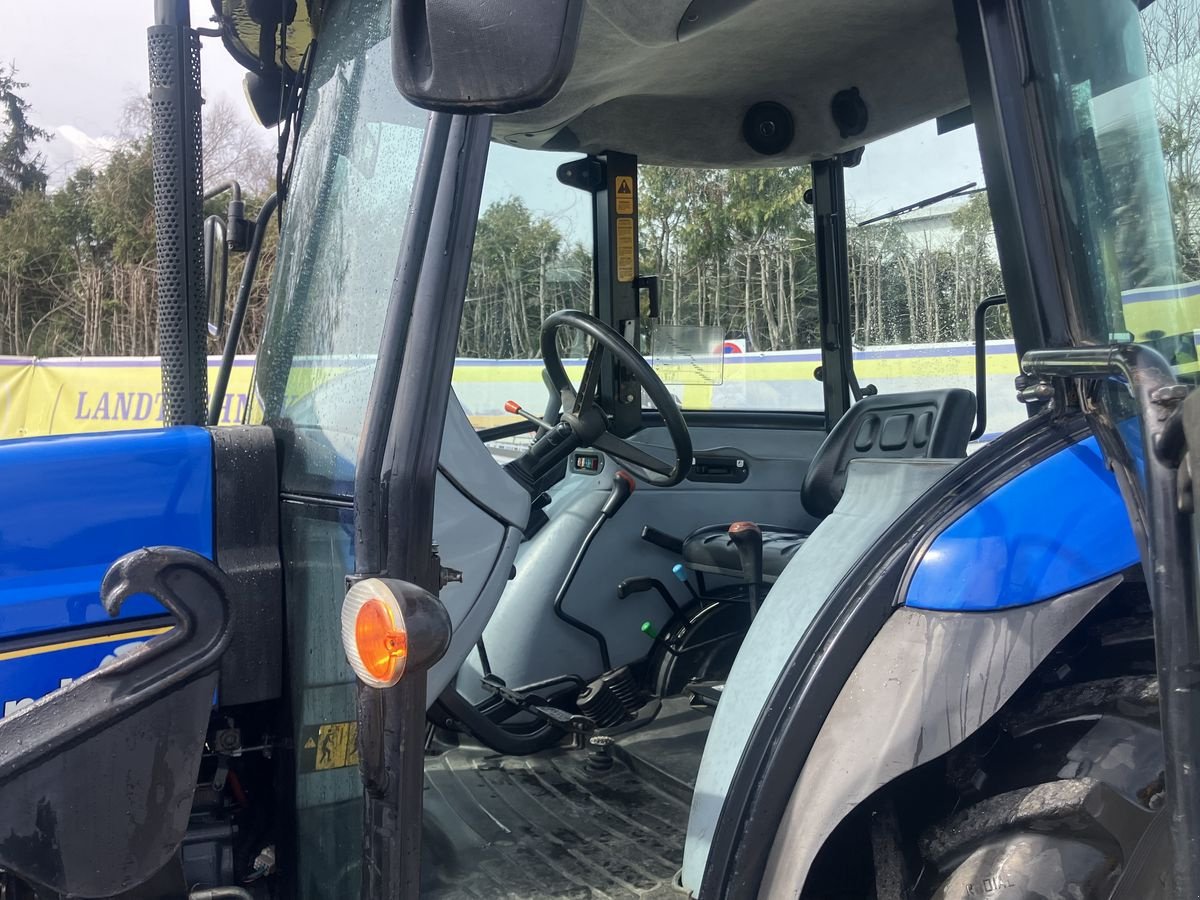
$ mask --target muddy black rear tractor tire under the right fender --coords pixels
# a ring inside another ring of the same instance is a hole
[[[1157,680],[1049,690],[1000,725],[983,752],[968,742],[948,761],[965,805],[920,835],[916,896],[1165,898],[1165,866],[1142,859],[1160,862],[1165,835]]]

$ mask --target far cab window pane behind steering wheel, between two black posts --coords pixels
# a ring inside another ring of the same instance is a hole
[[[638,169],[643,354],[685,409],[823,406],[806,166]]]

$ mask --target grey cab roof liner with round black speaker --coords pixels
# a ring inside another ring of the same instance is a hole
[[[746,114],[763,103],[794,122],[772,154],[746,139]],[[498,115],[493,137],[644,163],[782,166],[966,103],[950,0],[587,0],[562,89]]]

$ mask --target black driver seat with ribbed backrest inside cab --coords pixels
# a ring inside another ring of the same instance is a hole
[[[833,512],[846,490],[846,469],[853,460],[966,457],[974,416],[976,396],[961,388],[863,397],[834,425],[809,463],[800,486],[804,509],[817,518]],[[684,565],[695,572],[743,577],[728,529],[727,522],[704,526],[684,538]],[[808,534],[766,524],[760,530],[762,578],[773,584]]]

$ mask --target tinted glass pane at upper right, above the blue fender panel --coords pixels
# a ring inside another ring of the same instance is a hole
[[[1200,42],[1181,0],[1030,4],[1080,343],[1153,346],[1196,371]]]

